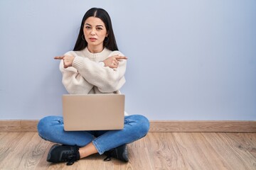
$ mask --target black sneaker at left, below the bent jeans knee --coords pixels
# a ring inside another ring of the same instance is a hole
[[[50,148],[47,161],[53,163],[68,162],[67,165],[72,165],[75,161],[80,159],[78,149],[78,146],[55,144]]]

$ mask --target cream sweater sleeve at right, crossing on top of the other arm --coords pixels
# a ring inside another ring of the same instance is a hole
[[[119,51],[111,52],[108,57],[122,55]],[[125,83],[124,73],[126,70],[127,61],[120,60],[117,69],[110,67],[102,67],[97,62],[93,62],[86,57],[75,57],[73,67],[78,69],[78,72],[90,84],[97,86],[102,93],[110,93],[118,91]]]

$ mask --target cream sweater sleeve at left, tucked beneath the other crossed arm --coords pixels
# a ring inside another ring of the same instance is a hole
[[[63,60],[60,61],[60,72],[63,74],[63,85],[69,94],[88,94],[93,87],[74,67],[64,69]]]

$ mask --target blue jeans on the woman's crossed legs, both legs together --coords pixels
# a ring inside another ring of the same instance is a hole
[[[84,147],[92,142],[99,154],[144,137],[149,131],[149,120],[143,115],[124,117],[122,130],[65,131],[62,116],[47,116],[38,123],[38,134],[44,140],[63,145]]]

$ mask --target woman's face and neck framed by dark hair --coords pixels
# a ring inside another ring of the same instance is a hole
[[[90,49],[103,48],[103,41],[107,37],[107,28],[100,18],[90,16],[85,20],[83,33]]]

